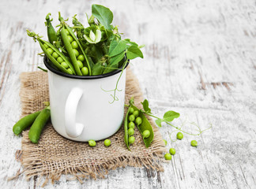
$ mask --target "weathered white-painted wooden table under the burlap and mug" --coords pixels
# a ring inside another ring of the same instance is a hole
[[[164,172],[126,167],[106,179],[61,180],[45,188],[256,188],[256,5],[255,1],[97,1],[114,13],[124,37],[145,44],[144,59],[132,61],[152,112],[172,109],[182,120],[213,128],[200,136],[175,139],[173,128],[160,128],[176,154]],[[21,114],[21,72],[43,66],[40,46],[26,28],[47,36],[44,18],[58,23],[77,13],[85,22],[91,1],[12,1],[0,3],[0,186],[34,188],[36,178],[7,181],[21,168],[15,152],[21,137],[13,124]],[[190,130],[191,124],[184,129]],[[198,147],[190,146],[192,139]]]

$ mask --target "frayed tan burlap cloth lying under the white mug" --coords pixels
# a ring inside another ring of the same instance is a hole
[[[43,102],[49,101],[48,80],[46,72],[23,72],[21,73],[21,104],[22,115],[34,113],[44,108]],[[127,69],[126,74],[126,104],[134,96],[135,105],[141,107],[143,97],[136,77]],[[111,146],[104,146],[104,141],[97,142],[95,147],[88,146],[88,143],[74,142],[58,135],[51,123],[43,129],[40,142],[36,145],[28,139],[28,130],[22,133],[21,150],[17,150],[18,156],[23,165],[24,174],[29,180],[32,176],[38,176],[38,183],[43,186],[49,180],[54,183],[59,180],[62,174],[79,180],[90,176],[104,178],[107,170],[126,167],[145,166],[146,169],[164,171],[161,162],[164,160],[163,152],[166,151],[163,139],[153,121],[155,138],[149,146],[145,148],[141,135],[134,129],[135,143],[126,148],[124,143],[123,126],[119,132],[109,137]],[[21,154],[22,153],[22,154]]]

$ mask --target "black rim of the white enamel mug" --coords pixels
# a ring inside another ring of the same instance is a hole
[[[69,77],[69,78],[73,78],[73,79],[80,79],[80,80],[95,80],[95,79],[102,79],[104,77],[108,77],[108,76],[114,76],[115,74],[118,74],[119,72],[122,72],[122,68],[121,69],[116,69],[115,71],[113,72],[107,72],[107,73],[104,73],[102,75],[96,75],[96,76],[77,76],[77,75],[70,75],[70,74],[67,74],[65,72],[60,72],[58,71],[57,69],[54,69],[51,67],[51,65],[49,65],[48,61],[50,61],[46,56],[43,57],[43,63],[44,65],[47,67],[48,70],[50,70],[51,72],[54,72],[56,73],[57,75],[59,76],[65,76],[65,77]],[[127,66],[129,65],[129,59],[127,61],[127,64],[126,64],[126,67],[124,69],[127,68]]]

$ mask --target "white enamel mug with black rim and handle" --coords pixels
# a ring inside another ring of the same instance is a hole
[[[58,134],[75,141],[100,140],[114,135],[122,125],[126,69],[118,83],[118,101],[113,91],[121,74],[115,70],[100,76],[72,76],[48,69],[51,123]]]

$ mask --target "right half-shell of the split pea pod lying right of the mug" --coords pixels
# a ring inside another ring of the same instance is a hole
[[[145,130],[149,130],[150,135],[148,138],[143,138],[143,142],[145,143],[145,146],[148,148],[150,146],[150,144],[152,143],[152,140],[154,139],[154,132],[152,131],[152,125],[149,123],[149,120],[147,119],[147,117],[145,117],[144,113],[141,113],[141,111],[139,109],[137,109],[136,106],[131,106],[134,108],[135,110],[139,111],[139,117],[141,117],[142,123],[140,125],[137,125],[138,130],[142,133]]]

